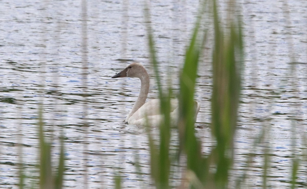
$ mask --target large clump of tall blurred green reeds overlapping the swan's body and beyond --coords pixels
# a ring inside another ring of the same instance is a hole
[[[205,4],[203,4],[205,6]],[[202,8],[201,8],[202,9]],[[160,143],[153,145],[150,133],[151,174],[157,188],[169,188],[169,94],[163,94],[157,60],[154,50],[153,35],[150,26],[149,10],[146,8],[147,31],[150,48],[150,58],[155,70],[159,96],[161,99],[161,112],[165,116],[160,126]],[[232,164],[233,136],[237,123],[237,112],[240,94],[240,69],[243,60],[242,33],[239,23],[231,23],[227,36],[219,25],[216,2],[213,1],[214,18],[214,51],[212,54],[213,91],[212,91],[212,133],[216,137],[217,145],[204,157],[201,145],[195,136],[194,126],[194,91],[196,84],[199,56],[205,43],[205,35],[201,35],[200,15],[196,21],[190,44],[185,54],[185,63],[180,75],[180,116],[178,132],[181,152],[187,157],[186,171],[181,186],[189,185],[192,188],[225,188],[228,183],[228,170]],[[172,162],[175,163],[175,162]],[[216,172],[209,171],[209,167],[216,167]]]

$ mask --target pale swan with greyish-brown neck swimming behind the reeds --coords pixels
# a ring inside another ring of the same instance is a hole
[[[153,99],[146,102],[149,92],[149,75],[146,69],[139,63],[132,63],[118,74],[112,76],[112,78],[118,77],[137,77],[141,80],[139,96],[128,114],[125,123],[129,125],[146,125],[149,123],[150,125],[158,126],[163,118],[163,115],[160,113],[160,100]],[[179,115],[178,99],[171,99],[170,104],[171,123],[177,123]],[[196,121],[197,114],[200,110],[200,104],[196,101],[195,108],[196,112],[194,120]]]

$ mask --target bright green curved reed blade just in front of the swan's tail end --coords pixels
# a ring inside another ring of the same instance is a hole
[[[205,6],[205,4],[203,4]],[[201,7],[204,9],[204,7]],[[180,148],[187,155],[187,168],[196,175],[201,183],[208,179],[208,162],[201,154],[201,145],[195,136],[195,103],[194,91],[196,84],[199,57],[204,47],[205,35],[201,36],[201,14],[197,17],[190,44],[186,50],[185,63],[180,75],[180,120],[178,124],[180,134]],[[202,38],[201,38],[202,37]],[[195,186],[194,186],[195,187]]]

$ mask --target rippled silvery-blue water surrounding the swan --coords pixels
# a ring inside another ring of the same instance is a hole
[[[65,135],[65,187],[111,188],[117,173],[123,177],[123,187],[152,186],[146,130],[122,123],[140,83],[130,78],[111,79],[129,60],[141,62],[153,77],[143,2],[88,1],[86,89],[82,88],[79,1],[0,1],[0,5],[1,188],[17,188],[19,153],[25,162],[26,182],[33,183],[38,176],[40,104],[46,134],[53,138],[54,157],[58,157],[60,133]],[[151,2],[162,79],[171,77],[174,89],[178,89],[178,71],[197,5],[198,1],[192,0]],[[220,6],[226,18],[227,6],[224,2]],[[234,181],[246,173],[245,186],[260,188],[266,151],[268,186],[285,188],[290,186],[293,158],[306,160],[307,1],[286,5],[283,1],[250,0],[241,1],[240,6],[246,65],[230,185],[234,187]],[[212,36],[210,27],[209,34]],[[196,125],[203,127],[196,128],[196,134],[205,154],[215,144],[209,128],[211,38],[196,88],[196,100],[201,103]],[[154,98],[153,79],[151,84],[149,97]],[[263,128],[266,142],[254,145]],[[175,135],[172,148],[177,143]],[[299,168],[297,187],[306,187],[305,164]],[[179,169],[173,170],[173,186],[180,182]]]

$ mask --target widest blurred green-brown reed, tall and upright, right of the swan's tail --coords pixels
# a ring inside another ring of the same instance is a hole
[[[230,34],[225,39],[220,28],[216,1],[213,1],[215,46],[213,51],[212,89],[212,133],[217,145],[216,188],[225,188],[228,183],[228,170],[233,158],[233,137],[235,134],[240,94],[240,69],[243,61],[242,31],[240,24],[231,23]]]

